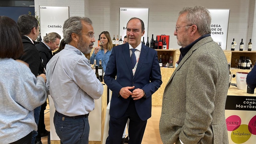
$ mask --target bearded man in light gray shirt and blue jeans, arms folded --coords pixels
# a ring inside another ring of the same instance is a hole
[[[103,85],[84,56],[95,42],[92,21],[86,17],[68,18],[63,37],[68,44],[46,66],[46,85],[56,108],[54,127],[61,143],[88,144],[88,116],[94,110],[94,100],[103,93]]]

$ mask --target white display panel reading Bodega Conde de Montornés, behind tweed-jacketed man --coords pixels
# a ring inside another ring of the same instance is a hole
[[[208,9],[208,10],[212,17],[211,37],[213,38],[213,41],[220,44],[220,47],[223,50],[230,50],[229,48],[226,49],[230,9]]]

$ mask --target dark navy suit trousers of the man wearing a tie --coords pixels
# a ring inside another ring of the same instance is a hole
[[[111,111],[111,110],[110,110]],[[120,144],[124,128],[126,126],[128,118],[129,122],[129,143],[141,144],[142,138],[145,132],[147,121],[142,121],[135,108],[134,100],[131,98],[129,106],[121,118],[114,118],[110,116],[109,130],[106,144]]]

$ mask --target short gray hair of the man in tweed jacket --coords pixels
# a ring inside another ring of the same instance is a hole
[[[210,24],[212,18],[206,7],[184,7],[183,10],[180,11],[179,16],[184,13],[187,13],[187,25],[196,25],[197,31],[199,34],[201,34],[201,36],[204,34],[210,34]],[[186,27],[186,29],[188,29],[188,27]]]

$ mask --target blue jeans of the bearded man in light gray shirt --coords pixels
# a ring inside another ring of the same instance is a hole
[[[63,144],[89,144],[88,117],[66,118],[55,111],[53,123],[57,135]]]

